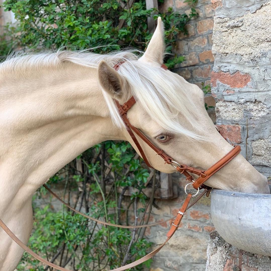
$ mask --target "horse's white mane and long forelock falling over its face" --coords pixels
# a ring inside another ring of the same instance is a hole
[[[19,54],[11,55],[0,64],[0,75],[5,72],[23,71],[24,69],[41,69],[63,65],[72,62],[80,66],[97,68],[101,60],[105,60],[112,67],[120,62],[118,72],[130,83],[132,95],[147,111],[152,120],[171,133],[183,134],[195,140],[205,138],[188,131],[178,121],[178,114],[192,124],[201,127],[193,117],[196,106],[189,97],[185,86],[179,86],[173,75],[160,67],[152,67],[145,62],[138,61],[139,56],[134,50],[118,51],[110,54],[86,53],[84,51],[57,51],[55,53]],[[138,51],[139,52],[139,51]],[[113,98],[103,91],[113,122],[118,126],[124,126]]]

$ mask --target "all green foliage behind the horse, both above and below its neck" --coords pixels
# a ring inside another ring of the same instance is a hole
[[[6,0],[5,10],[14,12],[18,23],[6,26],[0,37],[0,55],[5,59],[13,50],[60,47],[93,48],[91,51],[96,53],[127,47],[145,50],[152,36],[147,17],[157,19],[159,15],[165,25],[168,53],[165,63],[171,68],[184,60],[172,54],[177,34],[186,33],[186,23],[197,16],[197,0],[187,2],[191,5],[189,15],[174,13],[172,8],[164,14],[146,10],[144,0]],[[204,87],[205,92],[208,89]],[[56,184],[63,187],[63,199],[69,204],[117,224],[148,223],[155,205],[154,192],[159,187],[156,172],[146,167],[129,143],[112,141],[94,146],[66,165],[48,182],[52,187]],[[133,192],[125,197],[130,187]],[[144,193],[146,187],[152,191],[149,197]],[[46,191],[41,188],[35,197],[46,197]],[[104,227],[64,207],[55,212],[51,204],[42,209],[33,206],[33,210],[34,231],[29,246],[62,267],[69,264],[73,270],[111,269],[144,256],[151,246],[144,237],[145,229]],[[145,266],[149,267],[150,262]],[[140,265],[134,270],[142,268]],[[44,267],[25,253],[17,269],[44,270]]]

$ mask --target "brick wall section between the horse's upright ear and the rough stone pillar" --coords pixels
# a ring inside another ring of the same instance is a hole
[[[184,0],[167,0],[161,10],[165,11],[168,7],[181,14],[188,14],[191,10]],[[201,82],[210,83],[213,67],[213,11],[210,0],[199,0],[196,11],[199,16],[186,25],[188,35],[180,34],[174,47],[174,52],[184,56],[186,61],[176,65],[173,71],[188,82],[201,86]]]

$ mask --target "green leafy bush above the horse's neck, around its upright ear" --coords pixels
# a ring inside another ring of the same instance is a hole
[[[187,21],[197,16],[195,3],[191,4],[189,15],[173,12],[172,8],[159,14],[165,24],[168,53],[177,34],[186,32]],[[155,9],[146,10],[144,0],[135,1],[131,7],[129,2],[119,0],[6,0],[4,7],[18,20],[8,32],[14,46],[30,50],[63,46],[73,50],[94,48],[97,53],[127,47],[145,50],[151,38],[147,17],[158,17]],[[179,57],[169,64],[173,67],[181,61]]]

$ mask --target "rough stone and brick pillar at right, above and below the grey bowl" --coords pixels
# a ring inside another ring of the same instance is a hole
[[[211,76],[217,123],[243,156],[271,176],[271,2],[212,0]],[[267,271],[271,257],[239,250],[210,235],[206,271]]]

